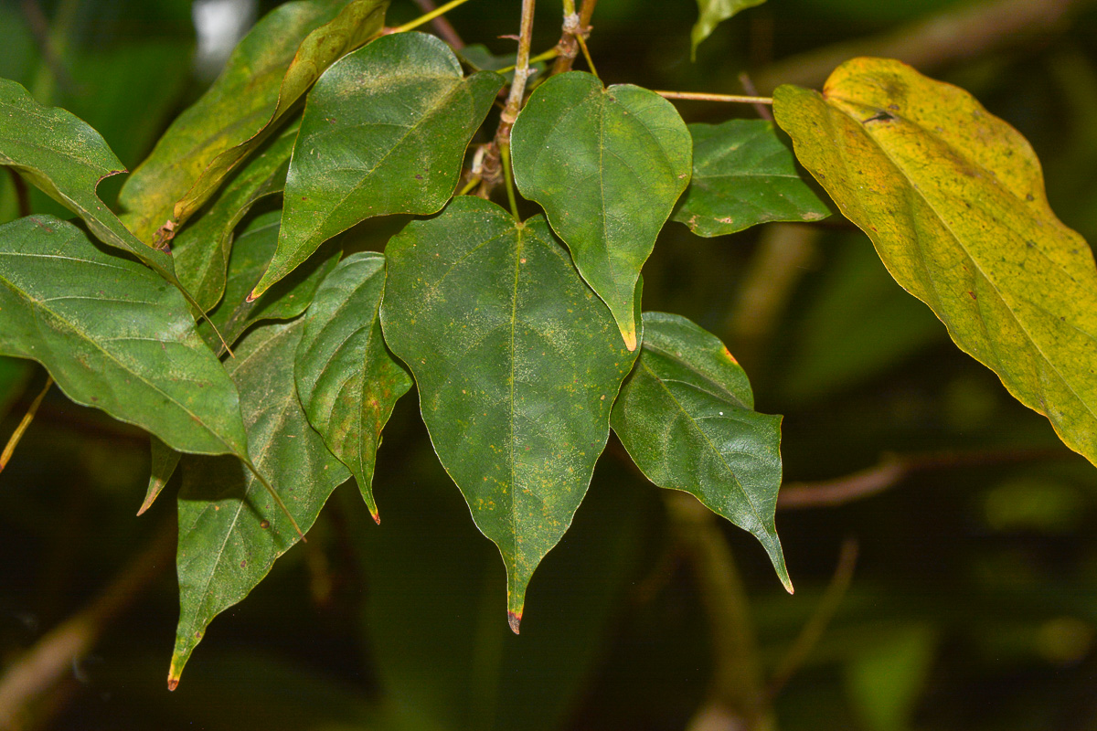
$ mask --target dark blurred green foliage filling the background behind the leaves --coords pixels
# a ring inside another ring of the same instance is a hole
[[[691,64],[694,0],[601,0],[589,45],[607,83],[734,93],[743,70],[893,31],[951,4],[769,0],[717,26]],[[48,22],[49,60],[39,53],[42,28],[27,22],[31,5]],[[418,13],[396,0],[389,23]],[[556,43],[558,13],[557,3],[539,3],[535,52]],[[498,37],[517,32],[513,0],[473,0],[449,18],[470,43],[513,52]],[[202,90],[193,36],[185,0],[5,0],[0,76],[86,119],[133,167]],[[1077,3],[1054,34],[929,72],[1018,127],[1043,161],[1059,216],[1097,240],[1094,3]],[[754,114],[691,102],[679,110],[687,122]],[[117,184],[103,184],[105,201]],[[36,212],[61,215],[36,193],[31,201]],[[4,173],[0,221],[15,212]],[[361,227],[360,240],[389,236],[402,221]],[[645,308],[687,316],[738,353],[731,313],[761,233],[700,239],[668,224],[645,267]],[[835,217],[810,245],[771,335],[743,357],[759,410],[785,415],[787,480],[847,475],[886,452],[1039,448],[1045,458],[916,471],[841,507],[779,511],[795,596],[773,580],[754,539],[725,526],[769,670],[814,612],[841,539],[860,540],[833,625],[774,701],[779,727],[1095,728],[1093,468],[947,342],[943,327],[886,277],[866,238]],[[41,369],[0,361],[3,438],[42,378]],[[522,635],[511,637],[496,606],[495,549],[438,464],[416,401],[399,403],[378,452],[380,527],[351,484],[337,490],[308,544],[211,625],[174,694],[163,675],[178,594],[163,572],[47,699],[42,728],[686,728],[710,690],[712,646],[656,490],[611,444],[573,529],[530,587]],[[56,389],[47,397],[0,475],[4,666],[162,529],[170,500],[133,516],[147,453],[137,430]],[[620,501],[633,506],[626,512],[613,507],[622,492],[638,496]]]

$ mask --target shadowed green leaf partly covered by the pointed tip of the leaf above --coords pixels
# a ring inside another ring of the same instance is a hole
[[[231,345],[244,331],[261,320],[289,320],[305,311],[313,301],[316,288],[324,277],[339,263],[342,248],[339,241],[329,241],[305,265],[279,282],[270,292],[255,301],[248,293],[262,276],[278,245],[281,210],[257,216],[240,233],[228,260],[228,275],[224,300],[210,312],[210,322]],[[203,323],[199,333],[211,347],[217,349],[217,335]]]

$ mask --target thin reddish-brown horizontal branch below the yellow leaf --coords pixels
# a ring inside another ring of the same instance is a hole
[[[1009,465],[1038,459],[1062,459],[1074,453],[1058,448],[941,452],[926,455],[884,455],[875,467],[821,482],[789,482],[777,498],[780,510],[833,507],[878,494],[914,472],[957,467]]]

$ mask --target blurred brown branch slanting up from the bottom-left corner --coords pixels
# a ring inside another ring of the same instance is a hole
[[[174,516],[160,526],[156,538],[126,564],[117,576],[86,606],[50,630],[0,677],[0,729],[20,731],[35,716],[43,697],[72,672],[94,647],[103,630],[126,610],[162,571],[172,566],[176,549]]]

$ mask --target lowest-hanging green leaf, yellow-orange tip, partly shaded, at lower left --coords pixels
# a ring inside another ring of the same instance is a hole
[[[308,425],[293,382],[304,320],[251,331],[225,363],[240,391],[253,462],[270,476],[290,513],[308,530],[328,495],[350,477]],[[240,602],[297,542],[289,518],[235,459],[186,457],[179,491],[179,628],[168,686],[213,618]]]

